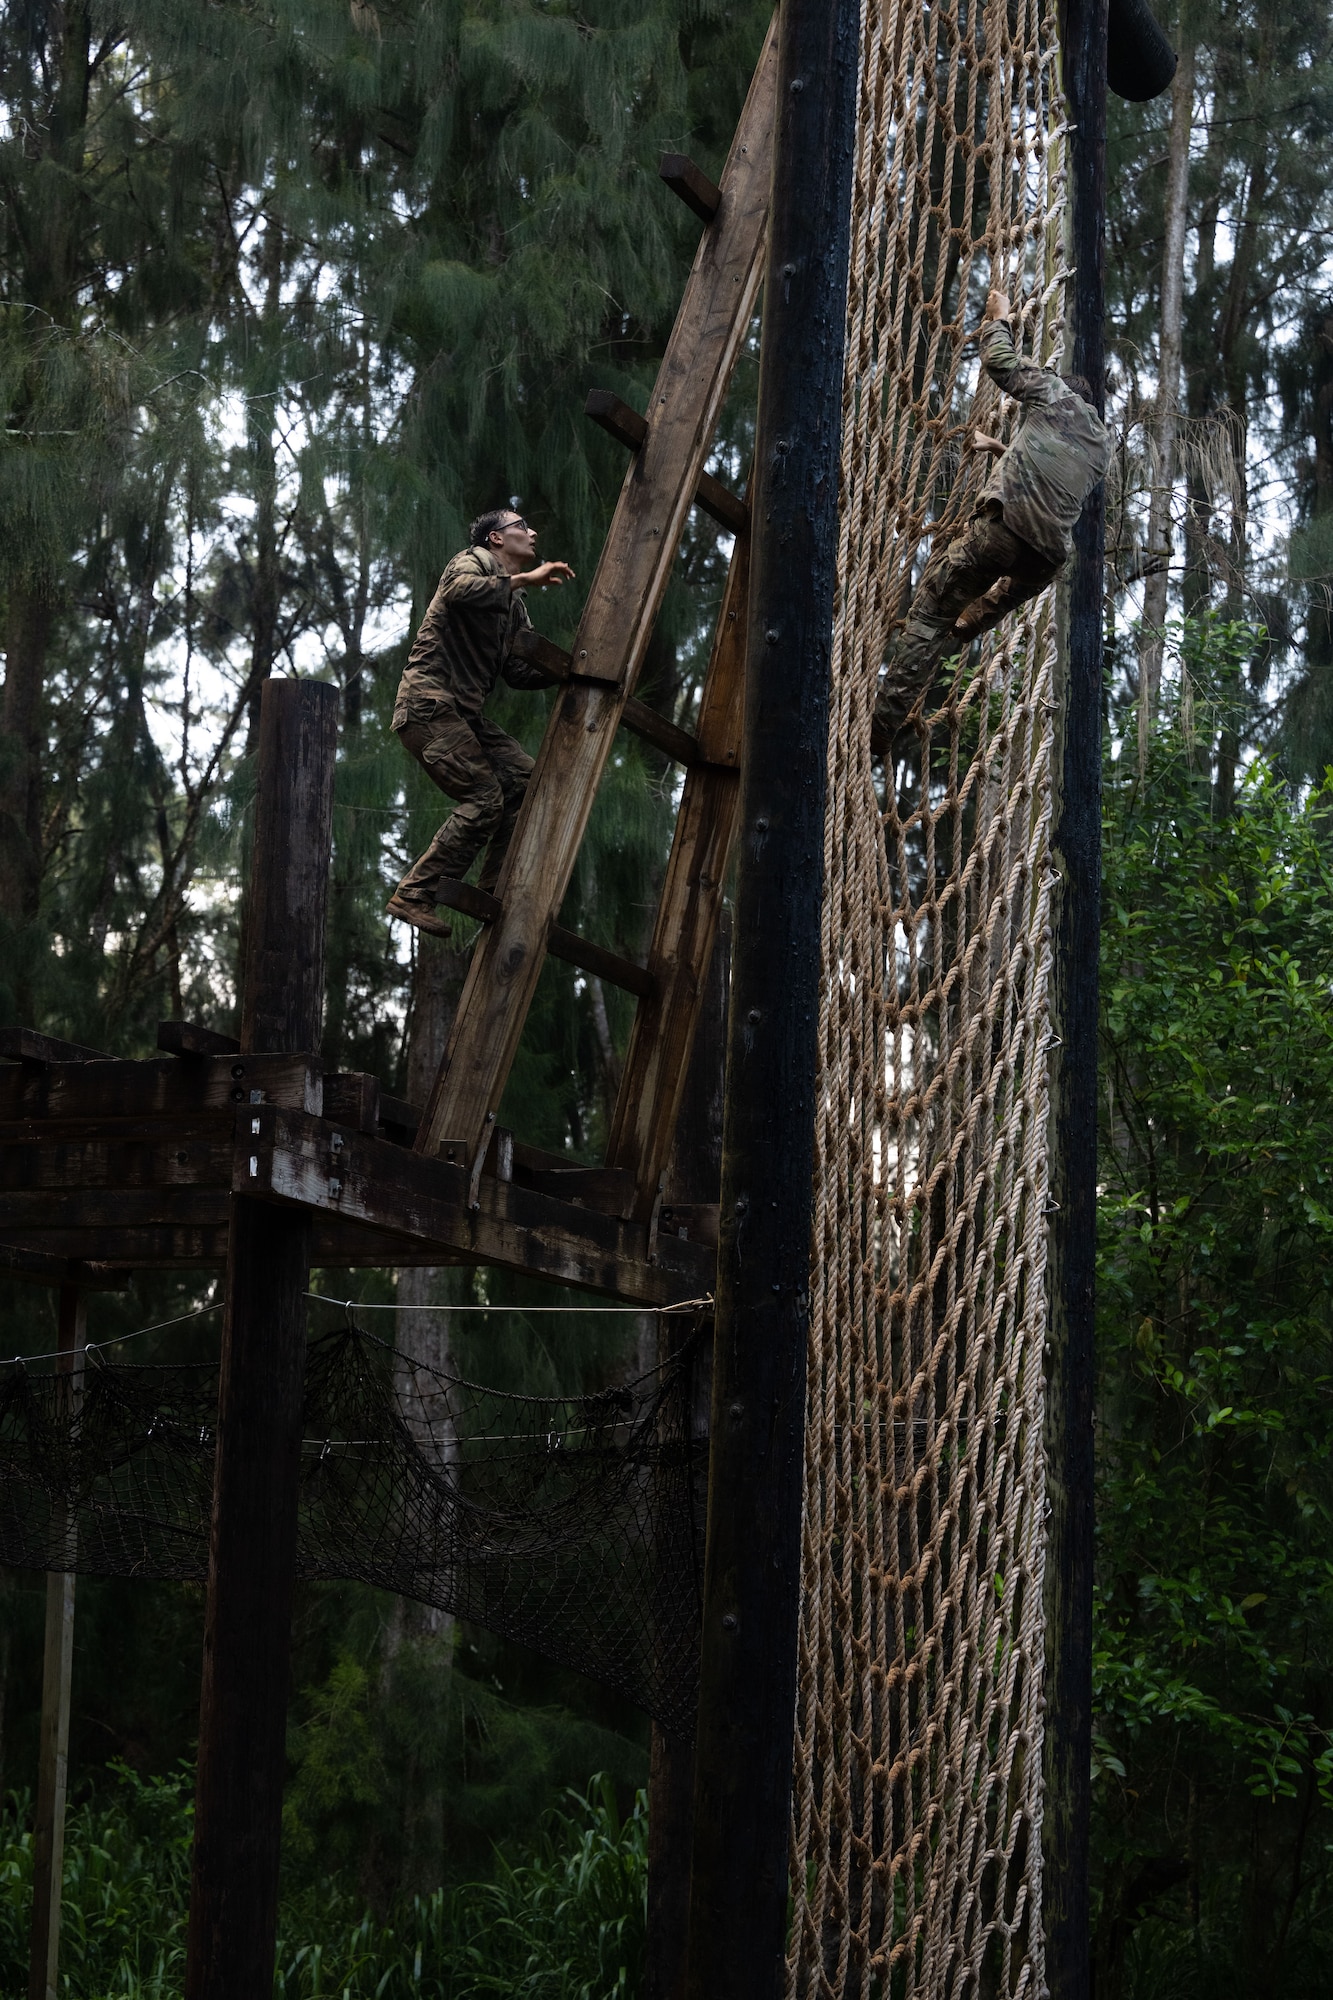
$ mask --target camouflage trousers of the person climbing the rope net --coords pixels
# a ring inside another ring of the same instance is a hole
[[[1019,604],[1027,604],[1059,576],[1063,562],[1043,556],[1025,542],[993,500],[965,522],[951,542],[937,546],[925,574],[913,592],[907,624],[889,648],[875,702],[877,734],[893,736],[903,728],[923,694],[933,688],[949,654],[989,632]],[[1009,578],[993,604],[979,612],[967,636],[955,624],[991,584]]]

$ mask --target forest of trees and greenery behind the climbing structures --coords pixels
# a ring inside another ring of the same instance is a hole
[[[118,1054],[232,1026],[258,690],[340,688],[324,1052],[422,1094],[466,964],[382,904],[438,820],[388,732],[468,518],[578,586],[767,6],[4,0],[0,1018]],[[1113,104],[1097,1626],[1099,2000],[1327,1990],[1333,1952],[1333,22],[1197,0]],[[719,468],[741,478],[739,372]],[[646,698],[689,720],[727,548],[695,520]],[[542,696],[500,720],[530,746]],[[634,954],[673,794],[622,742],[566,922]],[[628,1018],[546,968],[504,1118],[596,1158]],[[330,1274],[502,1388],[638,1328],[494,1274]],[[96,1296],[118,1342],[210,1296]],[[4,1288],[6,1352],[50,1346]],[[204,1318],[126,1346],[196,1352]],[[0,1586],[0,1990],[22,1990],[42,1584]],[[72,1992],[178,1990],[202,1604],[80,1582]],[[302,1592],[282,1990],[640,1990],[646,1726],[472,1628]],[[606,1774],[590,1786],[592,1774]],[[568,1794],[584,1794],[582,1804]],[[552,1818],[554,1814],[554,1818]],[[560,1816],[562,1814],[562,1816]],[[496,1846],[498,1842],[498,1846]],[[484,1882],[462,1890],[460,1884]],[[518,1954],[514,1958],[514,1952]],[[506,1956],[508,1954],[508,1956]],[[522,1984],[526,1980],[526,1984]],[[422,1984],[424,1982],[424,1984]],[[434,1984],[432,1984],[434,1982]]]

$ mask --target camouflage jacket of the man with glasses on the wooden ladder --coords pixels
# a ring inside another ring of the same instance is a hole
[[[510,688],[548,688],[550,674],[512,652],[530,622],[522,590],[508,588],[488,548],[452,556],[412,640],[392,726],[428,722],[442,706],[478,716],[500,674]]]

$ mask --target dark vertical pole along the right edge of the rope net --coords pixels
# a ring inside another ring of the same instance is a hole
[[[1105,378],[1107,0],[1067,0],[1073,352],[1099,402]],[[1047,1984],[1087,2000],[1093,1762],[1093,1392],[1097,1262],[1097,962],[1101,940],[1101,486],[1075,530],[1065,584],[1065,688],[1057,740],[1055,862],[1063,876],[1051,1078],[1051,1362],[1047,1374],[1047,1732],[1043,1912]]]

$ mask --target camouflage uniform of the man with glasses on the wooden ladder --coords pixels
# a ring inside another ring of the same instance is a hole
[[[448,562],[398,682],[394,730],[458,806],[398,884],[406,902],[434,908],[436,884],[460,882],[482,848],[478,886],[496,884],[532,758],[480,710],[500,676],[510,688],[550,686],[548,674],[514,656],[526,626],[522,592],[510,590],[488,548],[464,548]]]

